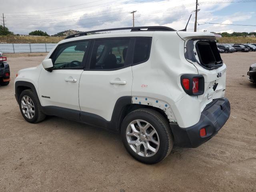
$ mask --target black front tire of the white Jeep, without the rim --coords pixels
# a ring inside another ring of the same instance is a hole
[[[32,102],[34,103],[34,117],[31,119],[27,118],[22,111],[21,100],[22,100],[22,97],[24,97],[24,96],[29,96],[31,98]],[[31,89],[22,91],[22,93],[20,94],[20,98],[19,98],[19,106],[20,106],[20,112],[27,122],[39,123],[46,118],[46,115],[42,112],[38,96]]]

